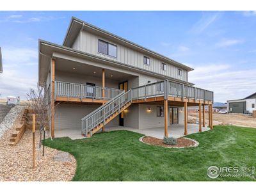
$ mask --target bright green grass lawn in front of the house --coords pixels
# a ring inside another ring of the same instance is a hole
[[[170,130],[171,132],[171,130]],[[163,148],[141,143],[142,134],[112,131],[92,138],[45,140],[77,160],[73,180],[256,180],[252,177],[210,179],[209,166],[256,166],[256,129],[214,126],[187,136],[195,148]]]

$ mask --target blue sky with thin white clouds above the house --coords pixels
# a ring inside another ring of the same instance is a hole
[[[26,99],[38,81],[38,39],[62,45],[77,17],[194,68],[214,102],[256,92],[256,12],[0,12],[0,97]]]

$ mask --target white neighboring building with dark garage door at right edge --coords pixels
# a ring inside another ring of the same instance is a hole
[[[253,113],[256,110],[256,93],[244,99],[227,100],[229,113]]]

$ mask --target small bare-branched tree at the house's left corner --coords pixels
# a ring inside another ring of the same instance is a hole
[[[54,114],[51,114],[50,88],[46,91],[38,85],[36,90],[31,88],[27,94],[27,105],[31,111],[30,114],[36,115],[36,129],[39,130],[38,158],[40,158],[42,132],[44,132],[45,127],[50,127],[51,116],[54,116]],[[31,115],[27,116],[27,124],[32,124]]]

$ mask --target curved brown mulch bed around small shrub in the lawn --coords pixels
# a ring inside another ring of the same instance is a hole
[[[168,147],[168,148],[195,147],[197,144],[196,141],[189,140],[188,138],[177,138],[177,145],[166,145],[164,144],[163,140],[153,138],[150,136],[143,137],[142,141],[149,145],[157,145],[157,146]]]

